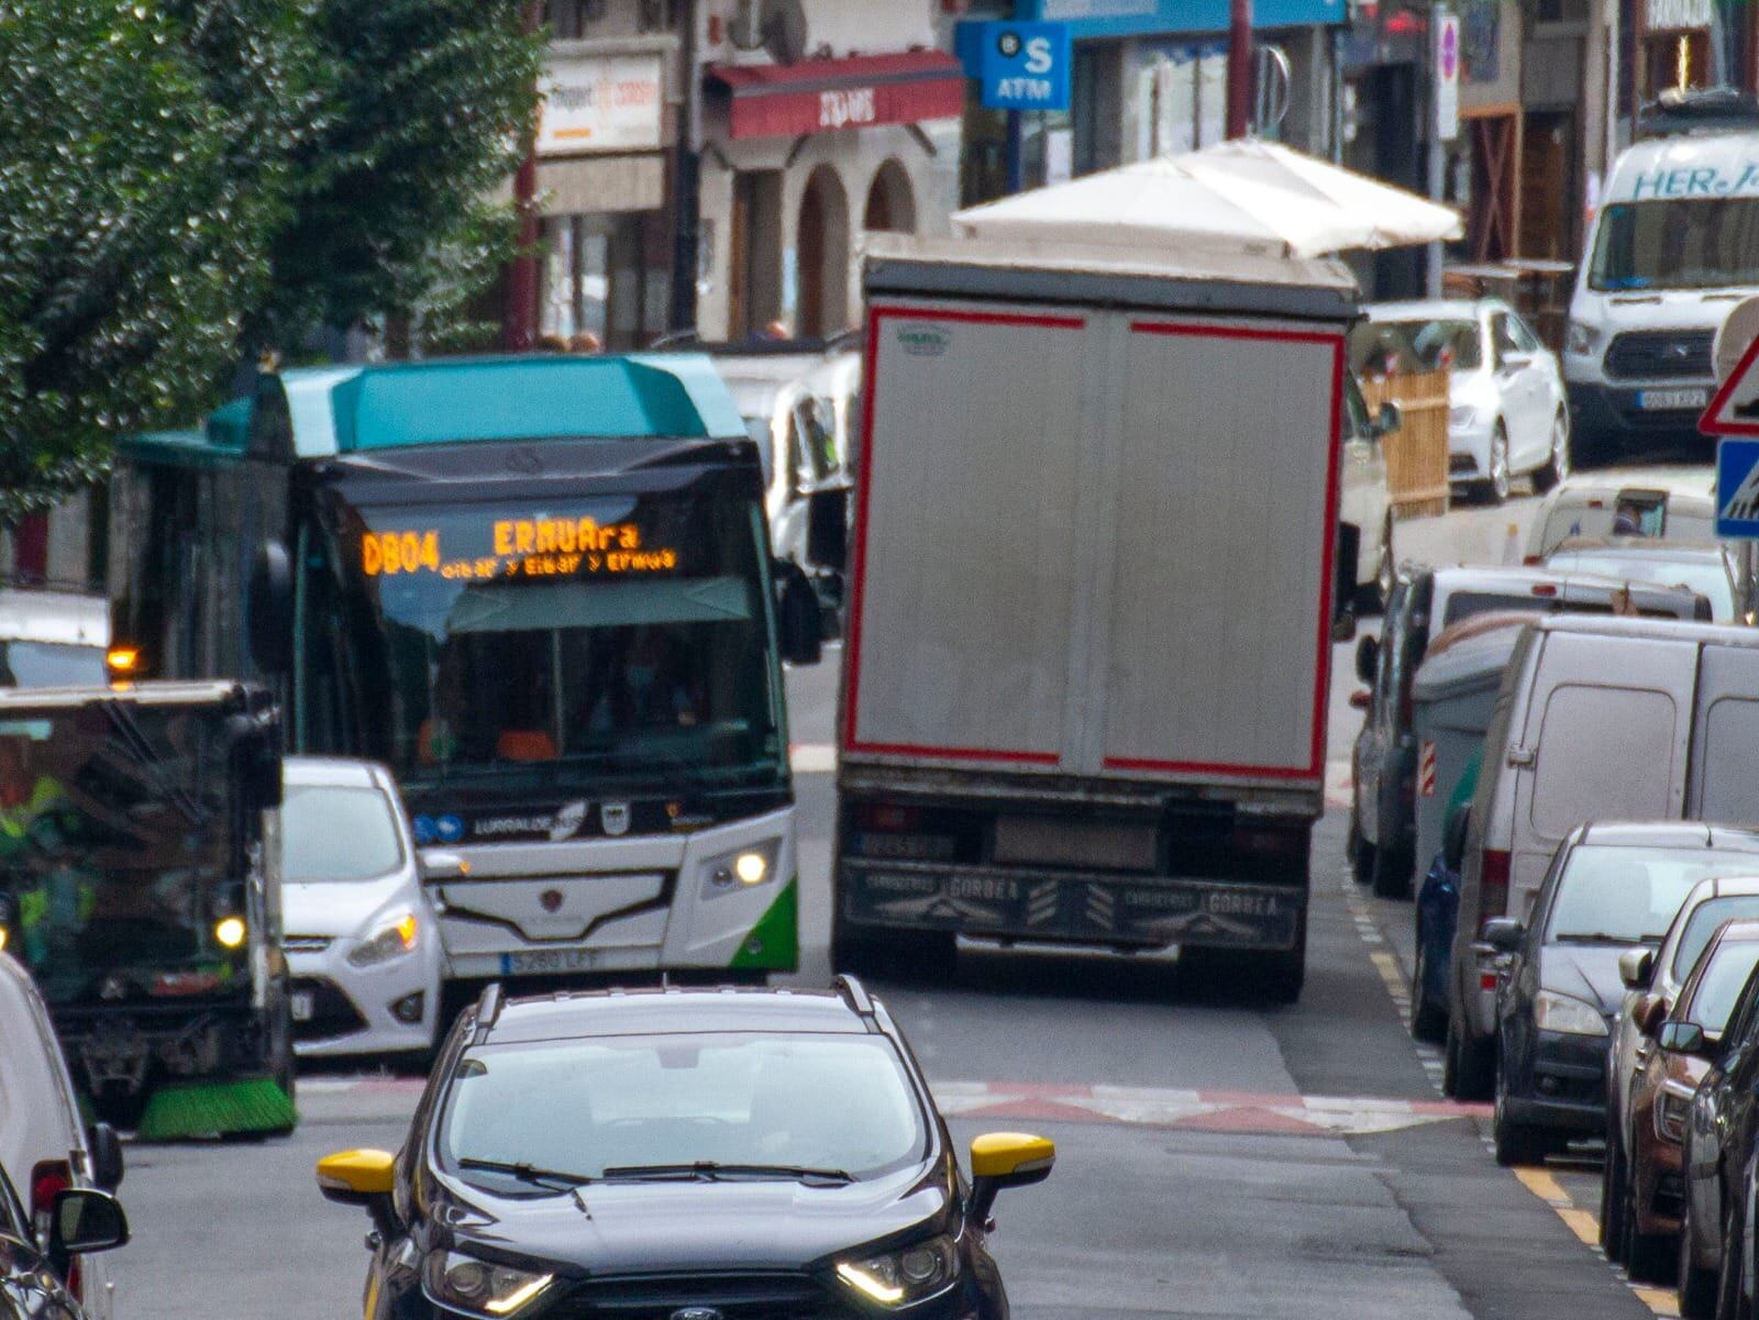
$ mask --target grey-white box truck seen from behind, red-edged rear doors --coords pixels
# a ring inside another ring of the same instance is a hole
[[[962,241],[865,285],[834,960],[1179,946],[1296,998],[1347,272]]]

